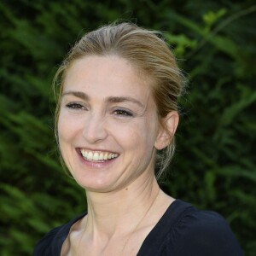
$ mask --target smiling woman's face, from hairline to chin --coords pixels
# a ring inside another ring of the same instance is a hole
[[[160,132],[149,79],[118,56],[88,56],[67,71],[58,120],[61,154],[84,189],[124,189],[154,173]]]

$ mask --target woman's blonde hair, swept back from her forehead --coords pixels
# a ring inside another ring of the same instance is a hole
[[[68,68],[73,61],[88,55],[118,55],[146,73],[153,81],[152,93],[160,123],[168,113],[173,110],[177,111],[177,98],[181,94],[183,75],[177,67],[172,50],[161,38],[160,32],[144,29],[131,22],[113,23],[86,33],[73,46],[57,70],[54,84],[58,84],[60,88],[55,110],[56,137],[63,81]],[[175,141],[172,137],[172,142],[160,154],[158,153],[160,161],[158,157],[156,162],[160,164],[160,171],[157,177],[160,177],[169,166],[174,149]]]

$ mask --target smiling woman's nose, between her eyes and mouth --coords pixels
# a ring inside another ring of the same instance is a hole
[[[108,137],[106,120],[97,114],[91,114],[85,119],[83,136],[90,144],[102,142]]]

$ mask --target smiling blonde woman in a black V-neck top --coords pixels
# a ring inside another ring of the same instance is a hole
[[[55,76],[56,137],[88,212],[51,230],[34,255],[242,255],[216,212],[166,195],[182,75],[166,43],[131,23],[84,35]]]

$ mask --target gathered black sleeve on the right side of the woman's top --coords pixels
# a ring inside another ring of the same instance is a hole
[[[170,248],[170,255],[244,255],[229,224],[217,212],[198,211],[183,218],[172,234],[172,243],[175,252]]]

